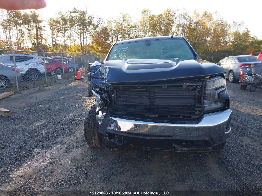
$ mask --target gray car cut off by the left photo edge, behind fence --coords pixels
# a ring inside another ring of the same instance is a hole
[[[22,75],[19,70],[16,69],[17,80],[22,80]],[[16,75],[14,67],[4,65],[0,63],[0,90],[6,89],[11,84],[16,82]]]

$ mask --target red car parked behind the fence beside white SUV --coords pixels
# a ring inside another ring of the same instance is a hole
[[[44,58],[41,58],[41,60],[44,60]],[[56,59],[50,59],[45,58],[46,61],[46,69],[47,73],[51,74],[51,71],[53,70],[56,75],[62,75],[63,74],[63,66],[62,62],[56,60]],[[44,63],[42,63],[44,64]],[[64,62],[64,72],[67,72],[66,63]]]

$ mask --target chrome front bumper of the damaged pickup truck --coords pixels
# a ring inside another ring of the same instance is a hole
[[[104,132],[128,133],[128,135],[143,136],[191,136],[210,137],[215,144],[224,142],[230,131],[230,120],[232,110],[225,110],[203,115],[197,123],[158,123],[131,120],[128,118],[117,118],[113,116],[98,116],[100,123],[105,128]],[[103,120],[102,120],[103,119]],[[103,133],[100,127],[100,133]]]

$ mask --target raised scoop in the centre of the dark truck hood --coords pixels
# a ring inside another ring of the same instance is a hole
[[[173,59],[127,59],[125,70],[172,68],[177,64],[177,58]]]

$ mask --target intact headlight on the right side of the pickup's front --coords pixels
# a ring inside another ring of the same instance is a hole
[[[222,76],[214,77],[206,81],[204,99],[204,111],[215,111],[226,108],[224,99],[219,99],[219,93],[226,88],[226,80]]]

